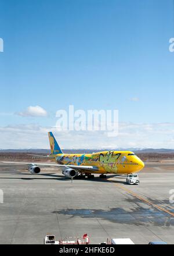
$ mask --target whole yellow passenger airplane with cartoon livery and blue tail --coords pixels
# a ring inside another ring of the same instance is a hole
[[[34,163],[34,162],[2,162],[28,165],[32,174],[38,174],[39,166],[57,166],[64,176],[74,178],[76,176],[93,178],[92,173],[99,173],[101,178],[106,178],[107,173],[123,175],[139,172],[144,168],[144,163],[131,151],[102,151],[93,154],[63,154],[53,133],[48,133],[52,158],[57,163]],[[36,155],[37,156],[37,155]]]

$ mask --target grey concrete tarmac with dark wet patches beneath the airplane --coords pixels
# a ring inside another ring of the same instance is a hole
[[[93,244],[122,237],[174,244],[174,164],[147,163],[139,178],[138,186],[112,175],[71,183],[57,168],[31,175],[0,163],[0,244],[43,244],[47,233],[57,240],[88,233]]]

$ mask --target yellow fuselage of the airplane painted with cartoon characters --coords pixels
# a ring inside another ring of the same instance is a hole
[[[131,151],[103,151],[93,154],[57,154],[57,163],[62,165],[94,166],[95,170],[84,173],[135,173],[144,168],[144,163]]]

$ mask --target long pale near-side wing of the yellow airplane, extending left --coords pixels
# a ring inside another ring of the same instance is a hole
[[[96,166],[92,165],[59,165],[58,163],[35,163],[35,162],[5,162],[5,161],[0,161],[1,163],[13,163],[14,165],[37,165],[37,166],[57,166],[60,168],[63,167],[68,167],[76,170],[98,170]]]

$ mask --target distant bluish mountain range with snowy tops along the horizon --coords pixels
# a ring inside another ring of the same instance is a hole
[[[113,148],[113,149],[109,149],[109,150],[128,150],[128,151],[133,151],[133,152],[141,152],[141,153],[174,153],[174,149],[167,149],[167,148]],[[99,152],[99,151],[109,151],[107,148],[102,148],[102,150],[92,150],[92,149],[83,149],[83,148],[79,148],[79,149],[64,149],[63,152],[64,153],[92,153],[92,152]],[[35,154],[50,154],[50,150],[47,149],[35,149],[35,148],[30,148],[30,149],[21,149],[21,150],[0,150],[0,153],[35,153]]]

